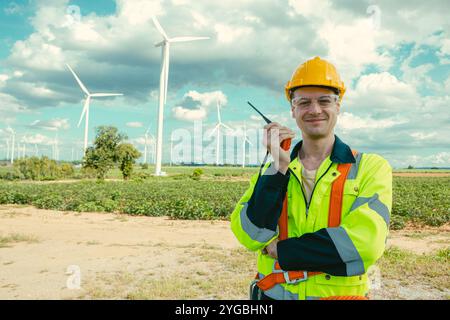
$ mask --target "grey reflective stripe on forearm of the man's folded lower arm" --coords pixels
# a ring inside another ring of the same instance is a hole
[[[352,239],[342,227],[326,229],[336,247],[342,261],[345,263],[347,276],[356,276],[364,273],[364,263],[356,250]]]

